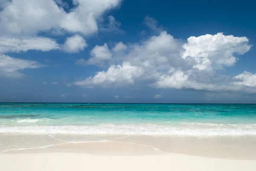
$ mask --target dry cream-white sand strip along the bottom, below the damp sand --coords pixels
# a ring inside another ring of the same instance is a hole
[[[256,171],[255,160],[185,154],[100,156],[75,153],[1,154],[1,171]]]

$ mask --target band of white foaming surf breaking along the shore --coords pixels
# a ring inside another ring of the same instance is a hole
[[[0,133],[164,136],[256,136],[256,124],[1,126]]]

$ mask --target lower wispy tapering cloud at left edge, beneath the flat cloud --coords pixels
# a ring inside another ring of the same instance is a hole
[[[20,77],[24,74],[20,70],[35,69],[44,67],[37,61],[24,60],[20,58],[12,58],[8,55],[0,55],[0,75],[7,77]]]

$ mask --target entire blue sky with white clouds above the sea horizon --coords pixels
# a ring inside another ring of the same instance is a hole
[[[0,0],[0,102],[256,103],[255,6]]]

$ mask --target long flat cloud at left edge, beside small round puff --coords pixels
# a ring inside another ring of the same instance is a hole
[[[0,37],[0,53],[26,52],[28,50],[49,51],[59,49],[58,43],[50,38],[22,37],[9,38]]]

